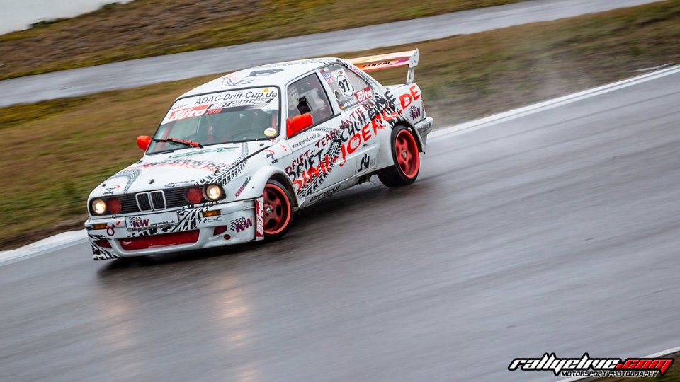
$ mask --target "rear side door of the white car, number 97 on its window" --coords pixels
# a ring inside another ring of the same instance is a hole
[[[375,170],[378,158],[377,131],[371,118],[375,108],[375,89],[351,69],[336,62],[319,69],[330,93],[341,109],[341,140],[344,154],[355,163],[354,174]],[[382,120],[376,121],[384,127]]]

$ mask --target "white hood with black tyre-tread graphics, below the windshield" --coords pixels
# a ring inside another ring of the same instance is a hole
[[[90,197],[226,184],[242,172],[249,156],[272,144],[271,141],[253,141],[146,155],[98,185]]]

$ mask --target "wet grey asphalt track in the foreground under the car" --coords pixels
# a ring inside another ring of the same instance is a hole
[[[551,381],[680,344],[680,74],[431,142],[283,241],[0,267],[1,381]]]

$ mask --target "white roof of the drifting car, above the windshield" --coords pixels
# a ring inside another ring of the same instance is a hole
[[[184,93],[180,98],[257,86],[280,86],[283,88],[288,81],[302,76],[302,74],[317,69],[324,64],[339,61],[341,59],[324,57],[255,66],[249,69],[234,71],[234,73],[203,83],[203,85]]]

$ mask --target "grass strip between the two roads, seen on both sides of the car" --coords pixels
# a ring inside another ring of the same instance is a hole
[[[680,1],[417,46],[416,80],[441,126],[679,62]],[[213,77],[0,108],[0,248],[81,227],[89,191],[140,157],[135,137],[152,134],[177,95]],[[377,78],[398,83],[405,71]]]

